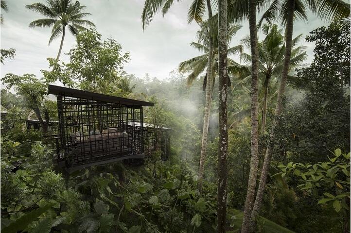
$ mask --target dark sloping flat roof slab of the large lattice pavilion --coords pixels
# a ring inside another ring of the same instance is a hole
[[[90,92],[90,91],[82,91],[78,89],[63,87],[63,86],[56,86],[56,85],[49,85],[48,89],[49,94],[53,95],[63,95],[75,98],[83,98],[87,100],[97,100],[103,101],[108,103],[118,103],[124,104],[128,106],[154,106],[155,104],[152,102],[142,101],[142,100],[132,100],[117,96],[109,96],[105,94]]]

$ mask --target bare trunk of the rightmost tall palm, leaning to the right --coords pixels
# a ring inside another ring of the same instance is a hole
[[[262,205],[263,193],[264,193],[264,189],[266,186],[268,169],[270,166],[270,161],[271,161],[271,157],[272,157],[272,150],[274,147],[274,138],[275,138],[275,133],[276,133],[276,127],[279,125],[278,119],[279,119],[279,115],[281,114],[281,111],[282,111],[282,100],[283,100],[287,76],[288,76],[290,57],[291,57],[291,41],[292,41],[292,37],[293,37],[293,26],[294,26],[293,19],[294,19],[295,0],[289,0],[288,7],[289,7],[289,12],[288,12],[288,16],[287,16],[286,35],[285,35],[285,37],[286,37],[285,38],[286,50],[285,50],[285,56],[284,56],[284,66],[283,66],[283,70],[281,73],[281,85],[279,87],[278,100],[277,100],[277,106],[276,106],[276,112],[275,112],[276,117],[273,120],[271,133],[270,133],[269,141],[268,141],[268,145],[267,145],[267,150],[266,150],[265,157],[264,157],[260,184],[258,187],[254,208],[253,208],[252,214],[251,214],[252,218],[256,218],[256,216],[258,216],[261,205]]]

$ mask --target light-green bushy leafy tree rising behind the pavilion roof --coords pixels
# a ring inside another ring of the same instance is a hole
[[[82,90],[114,94],[114,84],[125,75],[123,65],[129,61],[129,53],[123,53],[122,46],[112,38],[102,41],[95,29],[78,33],[76,41],[68,53],[70,63],[63,67],[64,77],[79,81]]]

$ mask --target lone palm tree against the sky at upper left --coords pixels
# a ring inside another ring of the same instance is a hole
[[[57,38],[62,33],[60,49],[56,57],[56,61],[60,58],[63,40],[65,38],[65,29],[68,27],[68,30],[76,35],[79,30],[88,30],[83,27],[90,26],[95,27],[95,25],[83,19],[84,17],[91,15],[90,13],[83,12],[86,6],[81,6],[79,1],[74,3],[71,0],[46,0],[47,6],[43,3],[33,3],[32,5],[27,5],[26,8],[32,11],[35,11],[45,17],[37,19],[29,24],[30,28],[35,27],[53,27],[51,31],[51,37],[49,40],[49,45],[53,39]]]

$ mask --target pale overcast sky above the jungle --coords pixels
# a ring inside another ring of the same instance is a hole
[[[55,58],[59,49],[60,38],[48,46],[51,29],[29,28],[28,24],[35,19],[43,18],[33,11],[24,8],[25,5],[44,0],[8,0],[8,12],[1,14],[4,23],[1,24],[1,49],[16,49],[14,60],[8,60],[1,65],[1,77],[6,73],[35,74],[41,77],[40,70],[48,69],[46,58]],[[187,24],[187,11],[192,0],[175,3],[169,13],[162,18],[156,15],[153,22],[143,32],[141,27],[141,11],[144,0],[81,0],[86,5],[86,12],[92,14],[87,19],[92,21],[103,39],[112,37],[130,52],[131,60],[124,69],[129,74],[144,77],[165,79],[169,72],[184,60],[199,55],[189,44],[195,40],[196,23]],[[314,15],[310,16],[308,24],[298,22],[294,28],[294,36],[303,33],[307,35],[313,29],[325,25]],[[248,34],[248,23],[242,23],[243,28],[232,40],[231,45],[238,45],[240,39]],[[308,47],[307,62],[313,60],[314,45],[302,41]],[[75,44],[75,39],[66,33],[60,59],[68,62],[67,53]],[[246,52],[249,52],[246,49]]]

